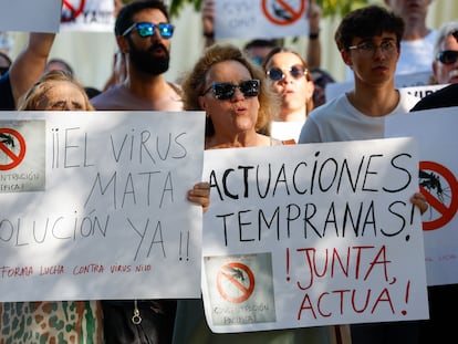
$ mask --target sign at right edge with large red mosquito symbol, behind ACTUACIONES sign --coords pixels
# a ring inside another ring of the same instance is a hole
[[[428,285],[458,283],[457,107],[389,116],[386,135],[418,139],[419,183],[429,209],[423,215]]]

